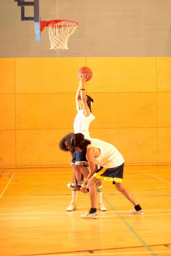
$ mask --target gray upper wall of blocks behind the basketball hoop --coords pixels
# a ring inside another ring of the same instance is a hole
[[[171,0],[40,0],[41,20],[79,23],[68,50],[50,50],[46,28],[41,43],[34,23],[20,20],[14,0],[0,0],[0,57],[171,56]],[[25,8],[33,15],[32,7]]]

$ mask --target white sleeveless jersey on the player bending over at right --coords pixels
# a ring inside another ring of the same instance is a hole
[[[91,147],[99,148],[101,151],[99,157],[94,158],[97,166],[113,168],[124,163],[122,154],[110,143],[99,139],[91,139],[91,144],[87,146],[87,149]]]

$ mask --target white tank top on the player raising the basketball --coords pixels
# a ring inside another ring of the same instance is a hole
[[[74,133],[81,133],[84,134],[86,139],[90,139],[90,133],[88,131],[90,122],[95,119],[95,116],[90,112],[88,117],[84,116],[84,109],[78,111],[77,115],[75,116],[74,120]]]

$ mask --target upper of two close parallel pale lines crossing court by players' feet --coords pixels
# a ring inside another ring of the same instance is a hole
[[[161,212],[161,211],[171,211],[171,209],[157,209],[157,210],[145,210],[145,212]],[[85,212],[85,211],[84,211]],[[74,214],[84,213],[84,212],[72,212]],[[128,212],[127,211],[106,211],[106,212]],[[24,213],[0,213],[0,215],[38,215],[38,214],[64,214],[69,212],[24,212]]]

